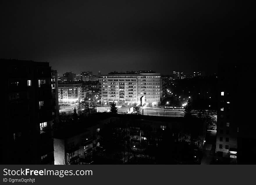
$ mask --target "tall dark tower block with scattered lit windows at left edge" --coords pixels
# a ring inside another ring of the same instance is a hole
[[[54,164],[52,123],[55,101],[52,99],[49,63],[3,59],[1,63],[7,64],[3,163]]]

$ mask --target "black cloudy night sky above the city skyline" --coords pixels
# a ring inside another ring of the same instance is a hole
[[[0,58],[92,70],[216,71],[237,31],[232,1],[6,1]]]

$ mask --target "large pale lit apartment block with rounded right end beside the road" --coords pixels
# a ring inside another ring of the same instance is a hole
[[[109,73],[99,78],[99,91],[104,105],[111,102],[118,105],[139,105],[142,96],[145,96],[145,103],[149,106],[160,105],[161,74],[151,71]]]

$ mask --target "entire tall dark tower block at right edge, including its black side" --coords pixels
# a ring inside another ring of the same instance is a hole
[[[218,64],[216,152],[230,163],[256,163],[253,69],[247,62]]]

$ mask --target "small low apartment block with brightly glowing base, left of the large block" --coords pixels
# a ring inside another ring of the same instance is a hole
[[[58,84],[58,101],[60,103],[80,103],[82,101],[82,84]]]

